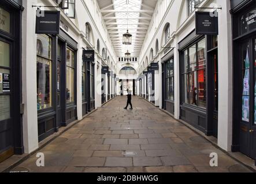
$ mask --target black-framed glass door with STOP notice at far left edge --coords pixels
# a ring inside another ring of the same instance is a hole
[[[0,162],[14,154],[10,43],[0,39]]]

